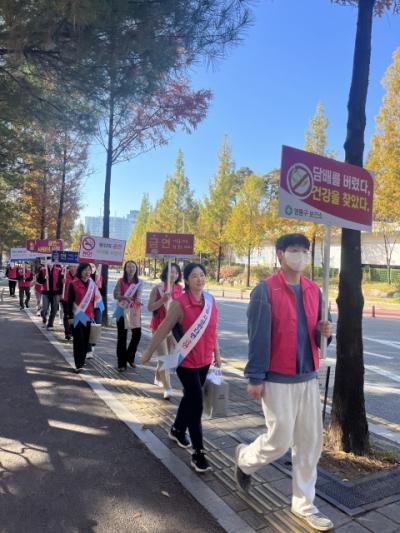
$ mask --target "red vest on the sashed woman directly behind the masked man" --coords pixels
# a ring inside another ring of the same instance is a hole
[[[190,328],[190,326],[196,321],[197,317],[203,310],[203,303],[198,303],[193,298],[192,294],[184,292],[182,296],[177,299],[183,310],[183,319],[181,322],[183,332]],[[211,364],[215,341],[217,338],[217,319],[218,311],[213,298],[212,311],[210,321],[206,327],[205,332],[201,336],[199,342],[183,360],[181,366],[185,368],[201,368]]]

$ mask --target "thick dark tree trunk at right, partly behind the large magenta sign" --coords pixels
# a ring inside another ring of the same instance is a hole
[[[362,166],[365,104],[371,57],[372,16],[375,0],[358,3],[357,35],[348,103],[346,162]],[[364,401],[364,361],[361,290],[361,234],[342,230],[339,277],[337,364],[329,428],[331,444],[338,450],[363,455],[368,452],[368,422]]]

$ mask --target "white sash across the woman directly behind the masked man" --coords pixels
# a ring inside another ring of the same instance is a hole
[[[178,342],[175,353],[171,355],[160,355],[158,360],[163,363],[161,370],[166,370],[169,368],[178,367],[187,355],[195,348],[196,344],[199,342],[201,337],[204,335],[204,332],[210,322],[212,308],[213,308],[213,297],[210,293],[203,291],[204,295],[204,307],[193,322],[181,340]]]

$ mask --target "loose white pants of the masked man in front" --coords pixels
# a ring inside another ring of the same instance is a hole
[[[292,510],[308,515],[314,506],[317,464],[322,450],[322,414],[318,381],[264,383],[261,400],[267,432],[239,454],[245,474],[279,459],[292,448]]]

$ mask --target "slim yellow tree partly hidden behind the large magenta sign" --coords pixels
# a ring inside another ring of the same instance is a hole
[[[305,133],[304,150],[313,154],[325,157],[336,157],[334,150],[327,151],[326,129],[329,121],[325,115],[325,109],[322,102],[318,102],[315,114],[310,120],[310,124]],[[322,240],[324,236],[324,226],[308,222],[305,224],[306,234],[311,241],[311,279],[315,278],[315,246],[317,239]]]

